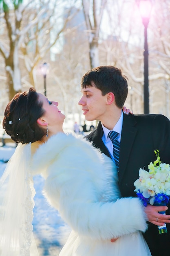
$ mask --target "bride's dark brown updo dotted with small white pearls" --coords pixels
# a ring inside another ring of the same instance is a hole
[[[38,102],[38,93],[34,88],[15,94],[8,103],[3,119],[3,128],[15,142],[22,144],[41,140],[46,130],[41,128],[37,119],[44,110]]]

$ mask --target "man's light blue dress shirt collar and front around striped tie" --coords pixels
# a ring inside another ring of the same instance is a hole
[[[117,121],[115,127],[113,128],[112,131],[118,132],[119,135],[117,136],[117,140],[120,142],[121,140],[121,129],[122,129],[122,125],[123,125],[123,112],[121,112],[121,116],[119,118],[119,120]],[[104,145],[106,146],[106,148],[108,149],[112,160],[115,162],[114,157],[113,157],[113,143],[111,141],[111,139],[108,137],[108,133],[110,132],[110,130],[108,130],[103,124],[102,124],[102,128],[103,128],[103,136],[102,136],[102,141],[104,142]]]

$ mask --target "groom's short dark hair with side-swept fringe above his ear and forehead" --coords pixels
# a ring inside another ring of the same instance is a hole
[[[94,86],[102,91],[102,95],[113,92],[118,108],[124,106],[128,95],[128,78],[114,66],[100,66],[89,70],[82,77],[81,88]]]

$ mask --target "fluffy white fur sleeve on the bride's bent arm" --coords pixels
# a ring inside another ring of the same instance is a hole
[[[67,164],[49,175],[44,189],[49,202],[79,235],[110,239],[146,230],[146,215],[138,198],[103,202],[94,177],[84,170],[86,164]]]

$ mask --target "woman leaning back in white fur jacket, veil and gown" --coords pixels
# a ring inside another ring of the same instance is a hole
[[[72,229],[60,256],[150,256],[141,234],[147,228],[142,203],[121,198],[111,159],[63,132],[65,116],[57,106],[30,88],[4,112],[3,127],[18,146],[0,180],[0,255],[38,255],[32,177],[41,173],[44,195]]]

